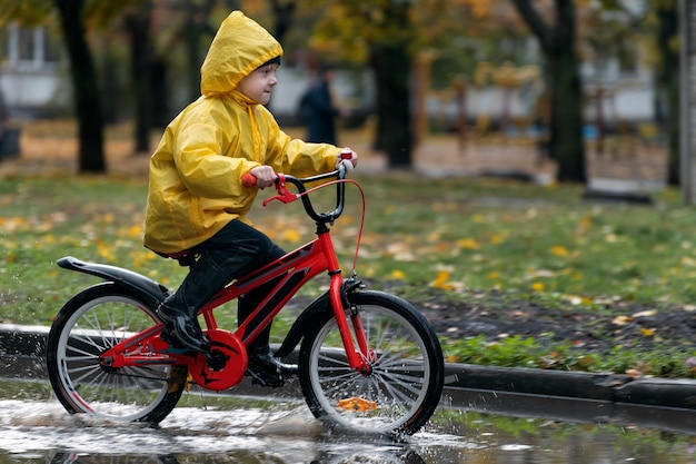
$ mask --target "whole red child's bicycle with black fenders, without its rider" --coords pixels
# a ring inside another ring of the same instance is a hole
[[[443,352],[432,327],[411,304],[365,289],[355,273],[341,276],[329,226],[344,211],[346,184],[357,185],[345,175],[344,165],[304,179],[279,175],[278,194],[264,206],[301,199],[317,238],[232,282],[200,309],[211,342],[207,356],[177,348],[163,336],[155,309],[169,295],[165,286],[116,266],[73,257],[58,260],[62,268],[105,280],[74,295],[49,333],[48,374],[67,411],[159,423],[190,382],[211,391],[233,387],[247,367],[246,347],[308,280],[327,273],[328,292],[301,312],[275,356],[286,357],[299,345],[302,394],[311,413],[329,426],[417,432],[439,403]],[[306,185],[320,180],[321,187],[336,185],[331,211],[316,211],[310,200],[315,189]],[[235,332],[218,326],[216,308],[274,279],[274,290]]]

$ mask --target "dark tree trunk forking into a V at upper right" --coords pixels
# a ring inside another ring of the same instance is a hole
[[[554,0],[556,22],[547,26],[530,0],[510,0],[537,37],[547,60],[550,96],[549,155],[558,180],[585,182],[583,95],[576,55],[574,0]]]

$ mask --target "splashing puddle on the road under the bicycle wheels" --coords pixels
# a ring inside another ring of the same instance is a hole
[[[239,399],[246,402],[247,399]],[[696,463],[696,437],[649,428],[438,411],[406,443],[331,434],[304,404],[177,407],[150,428],[0,401],[6,463]]]

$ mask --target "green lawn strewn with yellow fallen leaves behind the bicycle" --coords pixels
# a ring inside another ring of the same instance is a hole
[[[656,195],[656,205],[646,207],[584,203],[581,186],[573,185],[407,175],[359,180],[367,220],[358,274],[378,287],[398,283],[408,299],[425,298],[434,289],[444,299],[468,298],[469,288],[499,289],[559,310],[573,300],[597,312],[607,310],[601,302],[616,299],[655,307],[695,300],[696,214],[674,190]],[[357,189],[348,189],[349,205],[334,237],[349,273],[361,210]],[[145,179],[2,179],[0,322],[49,325],[72,294],[98,282],[58,268],[56,259],[66,255],[130,268],[175,288],[186,269],[141,246],[146,196]],[[330,198],[319,203],[332,206]],[[288,250],[314,238],[299,203],[267,208],[259,203],[252,219]],[[307,295],[317,295],[324,285],[319,279]],[[223,324],[233,324],[236,312],[227,314]],[[276,326],[287,326],[287,320]],[[479,342],[454,344],[453,356],[538,367],[538,358],[550,349],[538,354],[539,346],[519,343],[498,354],[500,359],[477,359]],[[517,352],[536,353],[537,361],[513,355]],[[657,356],[672,363],[667,352]],[[633,362],[612,359],[614,364],[586,361],[596,369],[617,372]]]

